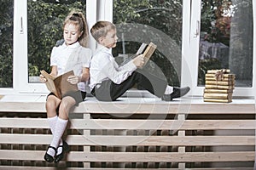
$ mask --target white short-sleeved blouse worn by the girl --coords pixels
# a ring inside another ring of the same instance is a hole
[[[81,76],[83,68],[90,68],[91,60],[90,48],[82,47],[79,42],[67,46],[63,43],[59,47],[54,47],[50,56],[50,66],[56,65],[58,75],[60,76],[67,71],[74,71],[74,75]],[[85,92],[88,82],[79,82],[79,90]]]

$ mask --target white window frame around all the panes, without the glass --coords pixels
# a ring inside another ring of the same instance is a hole
[[[112,4],[112,5],[109,5]],[[181,86],[189,85],[191,95],[202,96],[204,87],[197,87],[197,65],[199,38],[194,34],[198,30],[201,15],[201,1],[183,1],[183,44]],[[256,2],[253,1],[253,16],[256,15]],[[113,0],[86,0],[86,20],[89,29],[96,20],[113,21]],[[256,23],[256,17],[253,17]],[[254,24],[255,25],[255,24]],[[189,29],[188,29],[189,28]],[[90,36],[89,48],[96,49],[96,41]],[[253,86],[236,88],[234,96],[254,96],[256,68],[256,26],[253,26]],[[192,54],[192,55],[191,55]],[[14,0],[14,56],[13,88],[0,88],[1,94],[48,94],[43,83],[28,82],[27,59],[27,0]],[[27,77],[27,78],[24,78]]]

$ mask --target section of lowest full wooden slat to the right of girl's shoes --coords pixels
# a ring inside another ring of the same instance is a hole
[[[76,157],[67,156],[74,161],[114,161],[114,162],[200,162],[200,161],[254,161],[254,151],[241,152],[90,152],[79,153]]]

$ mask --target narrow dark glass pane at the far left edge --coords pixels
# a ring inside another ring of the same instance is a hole
[[[13,88],[14,1],[1,1],[0,10],[0,88]]]

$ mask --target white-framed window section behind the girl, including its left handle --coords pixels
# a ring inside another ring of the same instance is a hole
[[[86,0],[15,0],[15,92],[49,93],[38,83],[39,71],[50,70],[49,55],[62,38],[64,18],[73,9],[86,15],[85,4]]]

